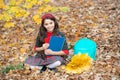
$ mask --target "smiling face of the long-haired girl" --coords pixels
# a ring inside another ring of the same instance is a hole
[[[53,32],[55,27],[55,22],[51,19],[45,19],[43,25],[46,28],[47,32]]]

